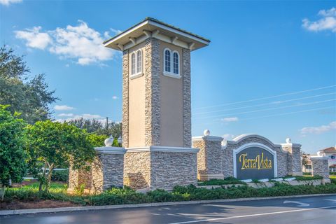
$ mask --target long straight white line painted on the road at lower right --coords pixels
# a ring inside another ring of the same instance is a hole
[[[231,217],[223,217],[223,218],[209,218],[209,219],[202,219],[202,220],[197,220],[197,221],[186,221],[186,222],[169,223],[169,224],[202,223],[202,222],[218,221],[218,220],[225,220],[225,219],[232,219],[232,218],[246,218],[246,217],[253,217],[253,216],[268,216],[268,215],[273,215],[273,214],[283,214],[283,213],[298,212],[298,211],[311,211],[311,210],[332,209],[332,208],[336,208],[336,206],[319,207],[319,208],[311,208],[311,209],[296,209],[296,210],[290,210],[290,211],[275,211],[275,212],[251,214],[251,215],[244,215],[244,216],[231,216]],[[200,216],[202,216],[202,215],[200,214]]]

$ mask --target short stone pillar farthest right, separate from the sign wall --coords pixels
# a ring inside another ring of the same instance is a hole
[[[329,179],[329,165],[328,165],[328,157],[326,156],[311,156],[311,165],[313,169],[313,176],[322,176],[323,183],[330,183]]]

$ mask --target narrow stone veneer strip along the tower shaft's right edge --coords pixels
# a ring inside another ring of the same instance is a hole
[[[191,147],[190,50],[183,48],[183,147]]]

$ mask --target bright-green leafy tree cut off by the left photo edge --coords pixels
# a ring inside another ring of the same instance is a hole
[[[5,195],[10,180],[20,182],[26,172],[25,121],[18,119],[18,113],[6,110],[8,106],[0,105],[0,181],[1,200]]]

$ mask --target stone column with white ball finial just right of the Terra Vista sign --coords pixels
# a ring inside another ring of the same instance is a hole
[[[282,149],[287,151],[287,171],[288,175],[302,176],[301,145],[293,144],[288,138],[286,144],[281,144]]]

